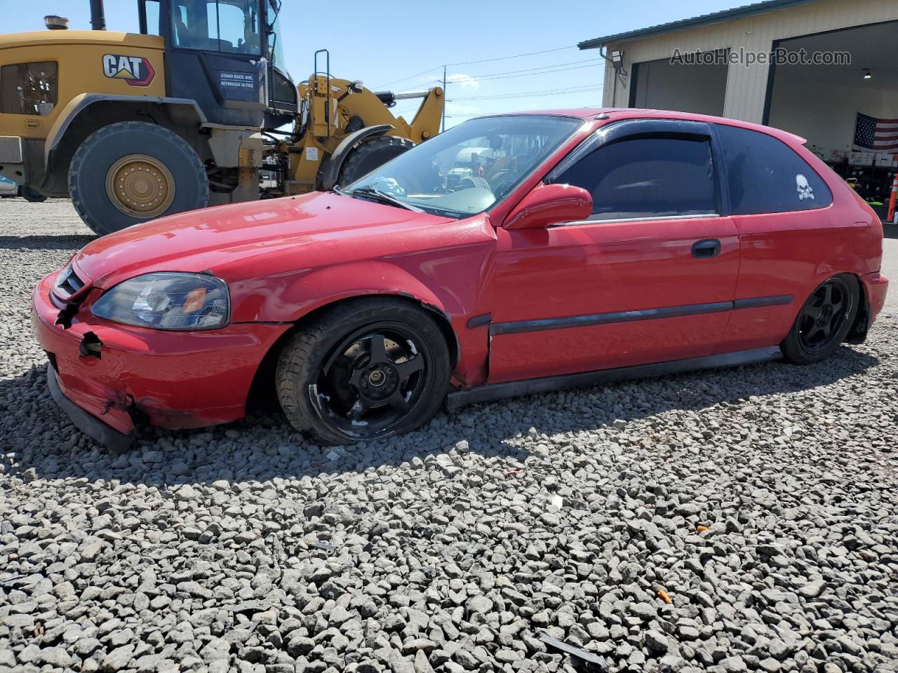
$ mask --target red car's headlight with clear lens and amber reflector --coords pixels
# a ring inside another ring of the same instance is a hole
[[[101,318],[154,329],[225,327],[231,302],[225,281],[212,275],[138,275],[104,293],[92,308]]]

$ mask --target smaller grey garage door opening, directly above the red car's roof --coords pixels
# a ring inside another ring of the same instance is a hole
[[[709,56],[713,59],[708,60],[714,61],[709,65],[672,63],[667,58],[634,63],[629,107],[722,115],[726,98],[726,50],[709,52]]]

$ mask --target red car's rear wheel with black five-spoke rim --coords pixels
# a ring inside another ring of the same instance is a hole
[[[832,355],[854,324],[859,299],[858,281],[852,275],[834,275],[817,287],[779,345],[786,361],[819,363]]]

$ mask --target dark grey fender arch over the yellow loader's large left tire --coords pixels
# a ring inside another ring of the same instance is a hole
[[[154,101],[97,101],[88,105],[72,119],[59,144],[50,153],[45,186],[67,193],[68,167],[75,150],[94,131],[120,121],[143,121],[166,127],[183,138],[206,162],[211,159],[207,136],[199,132],[195,112],[185,110],[185,107]]]

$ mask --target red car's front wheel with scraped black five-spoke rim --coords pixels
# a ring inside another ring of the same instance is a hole
[[[351,300],[286,344],[277,398],[290,424],[322,443],[381,439],[436,414],[450,366],[427,311],[400,299]]]

